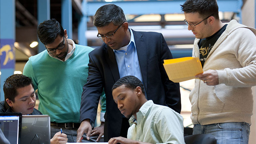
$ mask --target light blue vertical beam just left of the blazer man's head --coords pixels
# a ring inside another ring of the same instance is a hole
[[[78,20],[78,41],[80,45],[86,45],[87,46],[87,38],[85,36],[85,32],[87,30],[87,14],[86,14],[86,0],[83,0],[82,2],[82,15],[80,16],[80,19]]]

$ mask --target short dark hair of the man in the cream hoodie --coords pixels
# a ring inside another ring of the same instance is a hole
[[[185,13],[196,13],[204,19],[212,15],[215,19],[219,18],[219,7],[216,0],[187,0],[181,6],[181,10]]]

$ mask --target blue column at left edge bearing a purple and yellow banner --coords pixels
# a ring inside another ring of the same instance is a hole
[[[4,100],[3,85],[7,77],[13,75],[15,66],[15,0],[0,0],[0,58],[1,93]]]

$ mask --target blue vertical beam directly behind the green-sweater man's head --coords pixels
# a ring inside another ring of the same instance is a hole
[[[50,0],[37,0],[37,21],[38,24],[50,19]],[[38,39],[38,53],[45,50],[44,44]]]

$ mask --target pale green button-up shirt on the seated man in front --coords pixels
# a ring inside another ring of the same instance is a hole
[[[185,144],[183,117],[169,107],[145,102],[129,119],[127,138],[148,143]]]

